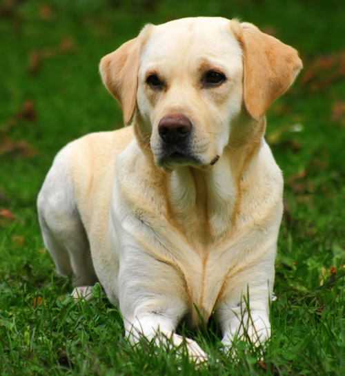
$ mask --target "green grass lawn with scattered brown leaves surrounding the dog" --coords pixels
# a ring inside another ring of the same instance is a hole
[[[99,79],[101,57],[146,22],[197,15],[270,30],[299,50],[305,67],[267,116],[286,184],[272,339],[266,348],[237,342],[233,359],[221,352],[211,320],[206,333],[188,333],[210,354],[201,368],[174,350],[131,348],[121,313],[99,286],[92,302],[70,299],[70,281],[55,274],[44,251],[35,207],[63,145],[121,126],[119,105]],[[14,216],[0,216],[1,375],[345,375],[344,19],[341,0],[0,4],[0,212]],[[33,121],[14,118],[26,101]]]

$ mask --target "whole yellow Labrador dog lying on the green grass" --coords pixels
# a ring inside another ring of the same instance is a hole
[[[76,296],[99,281],[133,344],[179,346],[179,321],[215,307],[224,346],[270,337],[283,179],[265,112],[301,69],[295,49],[220,17],[146,25],[101,59],[132,125],[64,147],[37,205],[57,271]]]

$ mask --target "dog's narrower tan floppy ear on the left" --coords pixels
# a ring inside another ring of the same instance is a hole
[[[140,50],[149,28],[150,25],[147,25],[137,38],[131,39],[116,51],[104,56],[99,64],[103,83],[119,101],[126,125],[132,121],[137,105]]]

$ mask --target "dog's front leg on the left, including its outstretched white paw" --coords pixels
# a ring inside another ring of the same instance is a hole
[[[188,300],[179,271],[148,253],[129,251],[121,260],[119,287],[126,336],[132,344],[143,337],[155,340],[157,346],[183,344],[175,328],[188,310]],[[197,363],[207,359],[195,341],[185,341],[190,359]]]

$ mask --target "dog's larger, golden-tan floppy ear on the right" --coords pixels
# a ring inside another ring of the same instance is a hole
[[[244,52],[244,104],[258,120],[293,83],[302,61],[294,48],[251,23],[231,21],[230,25]]]

